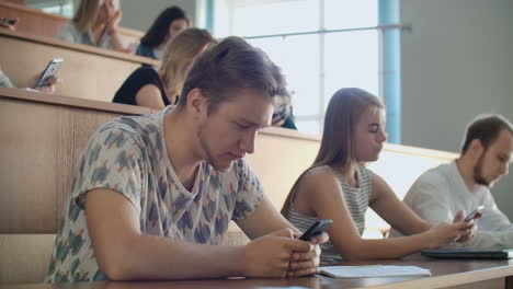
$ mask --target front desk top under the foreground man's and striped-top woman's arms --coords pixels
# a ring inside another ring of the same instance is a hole
[[[312,276],[290,279],[270,278],[233,278],[209,280],[181,280],[159,282],[81,282],[81,284],[35,284],[0,285],[0,289],[203,289],[203,288],[444,288],[469,285],[479,281],[502,279],[513,276],[513,261],[437,261],[415,257],[404,261],[380,261],[352,263],[351,265],[389,264],[414,265],[431,269],[432,277],[388,277],[334,279],[324,276]],[[501,281],[501,280],[499,280]],[[502,287],[503,288],[503,287]]]

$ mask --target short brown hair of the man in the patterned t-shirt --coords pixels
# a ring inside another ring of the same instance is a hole
[[[187,94],[200,89],[208,99],[208,114],[236,97],[241,90],[263,92],[275,106],[287,105],[290,95],[280,67],[261,49],[240,37],[227,37],[208,47],[189,69],[179,108],[185,107]]]

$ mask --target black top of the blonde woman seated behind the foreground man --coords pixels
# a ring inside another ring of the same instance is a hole
[[[159,74],[149,66],[141,66],[132,72],[117,90],[112,102],[137,105],[135,96],[146,84],[153,84],[159,88],[164,105],[168,106],[170,104]]]

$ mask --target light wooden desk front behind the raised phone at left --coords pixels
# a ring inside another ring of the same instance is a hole
[[[56,94],[103,102],[111,102],[141,65],[159,65],[147,57],[8,30],[0,30],[0,47],[1,68],[15,86],[26,88],[27,80],[42,72],[50,59],[64,58],[58,72],[64,81]]]

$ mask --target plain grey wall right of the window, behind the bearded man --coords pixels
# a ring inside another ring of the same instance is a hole
[[[402,0],[402,142],[459,151],[483,112],[513,119],[513,1]],[[512,167],[513,169],[513,167]],[[513,219],[513,173],[493,189]]]

